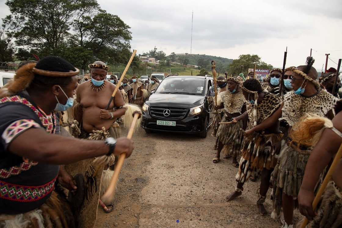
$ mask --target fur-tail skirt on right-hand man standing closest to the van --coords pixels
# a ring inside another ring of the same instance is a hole
[[[223,117],[222,122],[230,120]],[[226,157],[236,157],[240,155],[242,140],[244,139],[244,132],[242,130],[242,121],[236,124],[220,124],[216,133],[216,146],[220,143],[224,145],[224,155]],[[216,147],[216,149],[218,149]]]

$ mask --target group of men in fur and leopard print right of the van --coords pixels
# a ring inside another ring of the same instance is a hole
[[[263,82],[253,78],[254,72],[247,80],[243,75],[217,80],[220,89],[214,109],[223,117],[221,123],[213,124],[217,149],[213,162],[219,162],[224,151],[225,158],[232,158],[238,168],[237,186],[226,201],[242,195],[248,180],[260,177],[258,210],[267,214],[264,202],[271,187],[271,217],[285,228],[293,227],[297,207],[310,220],[307,227],[342,226],[342,178],[338,175],[342,160],[319,207],[312,209],[314,192],[342,143],[339,74],[330,68],[318,78],[313,63],[308,57],[306,65],[286,68],[283,79],[282,69],[275,68]]]

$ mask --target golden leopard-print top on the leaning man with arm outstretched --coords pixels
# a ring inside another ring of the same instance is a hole
[[[248,126],[247,129],[251,129],[253,127],[254,122],[254,105],[246,102],[247,104],[247,114],[248,114]],[[257,105],[257,115],[256,121],[257,125],[260,124],[262,121],[270,117],[275,110],[277,110],[280,105],[282,104],[282,98],[278,95],[273,93],[265,93],[265,97],[262,99],[260,104]]]

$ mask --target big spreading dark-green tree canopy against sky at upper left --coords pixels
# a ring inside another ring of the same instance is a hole
[[[58,55],[76,67],[90,62],[127,63],[130,27],[117,15],[101,10],[96,0],[7,0],[11,15],[3,20],[27,53]]]

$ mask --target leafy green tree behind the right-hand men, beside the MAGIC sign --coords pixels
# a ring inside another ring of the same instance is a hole
[[[242,73],[247,75],[248,68],[253,68],[254,64],[257,68],[272,69],[273,66],[261,61],[258,55],[240,55],[238,59],[234,59],[231,64],[227,67],[228,75],[238,75],[241,70],[241,65],[243,65]]]

